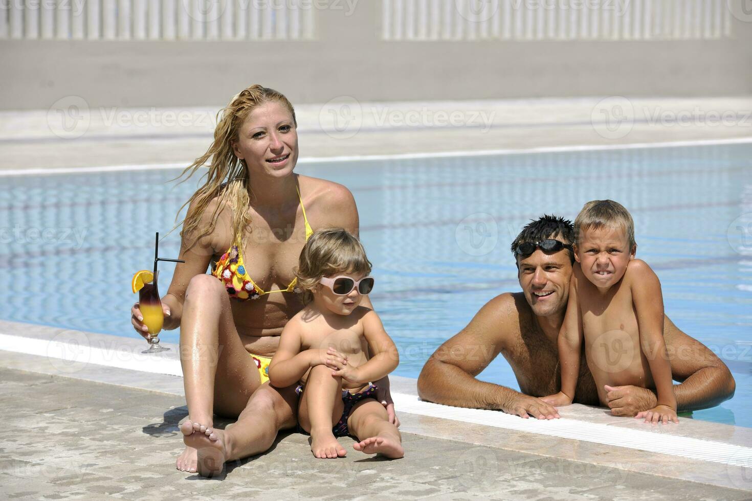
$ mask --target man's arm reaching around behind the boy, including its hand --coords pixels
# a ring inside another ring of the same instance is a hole
[[[681,382],[674,385],[678,412],[708,409],[734,396],[736,382],[726,364],[705,345],[682,332],[667,316],[663,318],[663,337],[672,377]],[[657,401],[653,391],[636,386],[614,387],[607,397],[614,415],[625,416],[652,409]]]

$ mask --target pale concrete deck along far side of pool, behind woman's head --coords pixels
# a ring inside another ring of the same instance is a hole
[[[76,97],[49,110],[0,112],[0,175],[186,167],[211,144],[222,106],[89,109]],[[302,162],[752,140],[750,96],[384,103],[341,96],[296,107],[296,116]]]

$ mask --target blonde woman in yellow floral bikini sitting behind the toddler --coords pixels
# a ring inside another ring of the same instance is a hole
[[[279,430],[296,425],[294,388],[271,387],[265,373],[282,327],[303,306],[293,267],[315,228],[358,231],[347,188],[293,174],[297,123],[284,95],[251,86],[220,113],[214,143],[183,171],[190,177],[211,159],[206,183],[186,203],[185,263],[162,298],[165,328],[180,327],[188,405],[176,466],[205,476],[267,450]],[[371,306],[367,297],[363,304]],[[148,337],[138,304],[132,323]],[[380,383],[379,401],[397,423],[388,381]],[[214,413],[238,421],[217,430]]]

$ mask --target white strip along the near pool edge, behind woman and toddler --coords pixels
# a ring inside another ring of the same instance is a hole
[[[70,337],[61,339],[71,340]],[[180,361],[177,360],[177,352],[174,351],[171,353],[168,352],[171,356],[166,358],[154,355],[142,355],[141,349],[145,346],[143,344],[138,349],[121,346],[121,348],[126,349],[118,350],[91,346],[92,343],[87,342],[88,337],[86,335],[80,338],[84,343],[78,342],[80,340],[77,340],[75,337],[73,340],[76,342],[67,343],[64,340],[45,340],[0,333],[0,349],[8,352],[45,357],[53,367],[62,373],[67,373],[62,375],[68,377],[75,377],[77,367],[81,367],[82,364],[96,364],[105,367],[138,370],[146,373],[182,376]],[[408,414],[450,419],[462,423],[481,424],[505,430],[537,433],[564,439],[581,440],[638,451],[669,454],[693,460],[722,463],[729,466],[752,467],[752,448],[750,447],[687,436],[669,435],[668,433],[656,433],[654,427],[651,426],[648,428],[647,425],[645,430],[635,430],[625,427],[614,428],[611,424],[599,424],[566,417],[550,421],[522,419],[500,411],[465,409],[424,402],[410,394],[395,392],[392,394],[392,397],[398,412]],[[562,411],[562,413],[566,414],[566,410]],[[663,426],[671,427],[674,425]],[[617,430],[618,433],[615,433]]]

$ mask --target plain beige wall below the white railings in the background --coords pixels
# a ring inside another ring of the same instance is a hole
[[[317,41],[0,41],[0,109],[752,94],[752,23],[710,41],[381,41],[379,2],[317,12]]]

